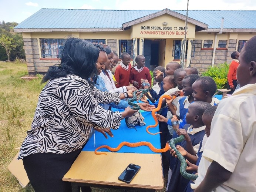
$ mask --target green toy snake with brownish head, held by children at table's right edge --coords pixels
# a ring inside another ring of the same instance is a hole
[[[172,117],[171,121],[172,121],[172,127],[174,128],[174,130],[178,131],[178,129],[179,129],[179,120],[178,120],[178,118],[176,116],[174,116],[174,117]],[[180,168],[181,175],[185,179],[195,180],[196,178],[198,178],[198,175],[189,174],[189,173],[186,172],[186,168],[187,168],[186,159],[181,155],[181,153],[179,152],[179,150],[175,146],[175,143],[181,142],[184,139],[185,139],[184,135],[181,135],[177,138],[169,140],[168,143],[171,146],[171,148],[174,149],[174,151],[176,152],[176,155],[177,155],[179,161],[181,161],[181,168]]]

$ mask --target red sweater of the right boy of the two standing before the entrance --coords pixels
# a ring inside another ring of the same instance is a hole
[[[149,69],[144,67],[142,71],[138,72],[132,68],[130,74],[130,83],[132,84],[133,81],[137,81],[139,83],[139,88],[141,88],[141,79],[147,79],[151,86],[151,75],[149,73]]]

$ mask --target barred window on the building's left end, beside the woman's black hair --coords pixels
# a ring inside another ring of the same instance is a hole
[[[40,39],[42,58],[59,58],[65,39]]]

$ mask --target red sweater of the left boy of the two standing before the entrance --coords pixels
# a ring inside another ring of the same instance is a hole
[[[121,67],[121,65],[118,65],[115,69],[115,80],[118,82],[115,86],[117,88],[122,86],[129,86],[129,77],[131,73],[131,64],[129,63],[128,70]]]

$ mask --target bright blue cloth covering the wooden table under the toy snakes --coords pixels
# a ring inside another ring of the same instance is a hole
[[[115,111],[116,109],[113,109]],[[140,142],[140,141],[147,141],[150,142],[155,148],[161,148],[160,145],[160,135],[150,135],[146,132],[146,127],[148,125],[154,125],[155,121],[154,118],[151,115],[151,112],[142,111],[141,114],[145,118],[144,121],[146,123],[145,126],[139,126],[137,125],[135,128],[128,128],[125,119],[121,121],[121,126],[117,130],[111,130],[114,137],[110,137],[108,135],[108,139],[104,137],[103,134],[101,134],[98,131],[95,131],[95,147],[94,147],[94,135],[88,140],[87,144],[84,146],[82,151],[94,151],[96,148],[98,148],[101,145],[108,145],[112,148],[116,148],[121,142],[127,141],[127,142]],[[156,126],[155,128],[149,128],[149,131],[152,133],[159,132],[159,127]],[[102,148],[98,151],[107,151],[108,149]],[[148,146],[139,146],[139,147],[128,147],[123,146],[119,151],[119,153],[141,153],[141,154],[155,154],[155,152],[152,152]]]

